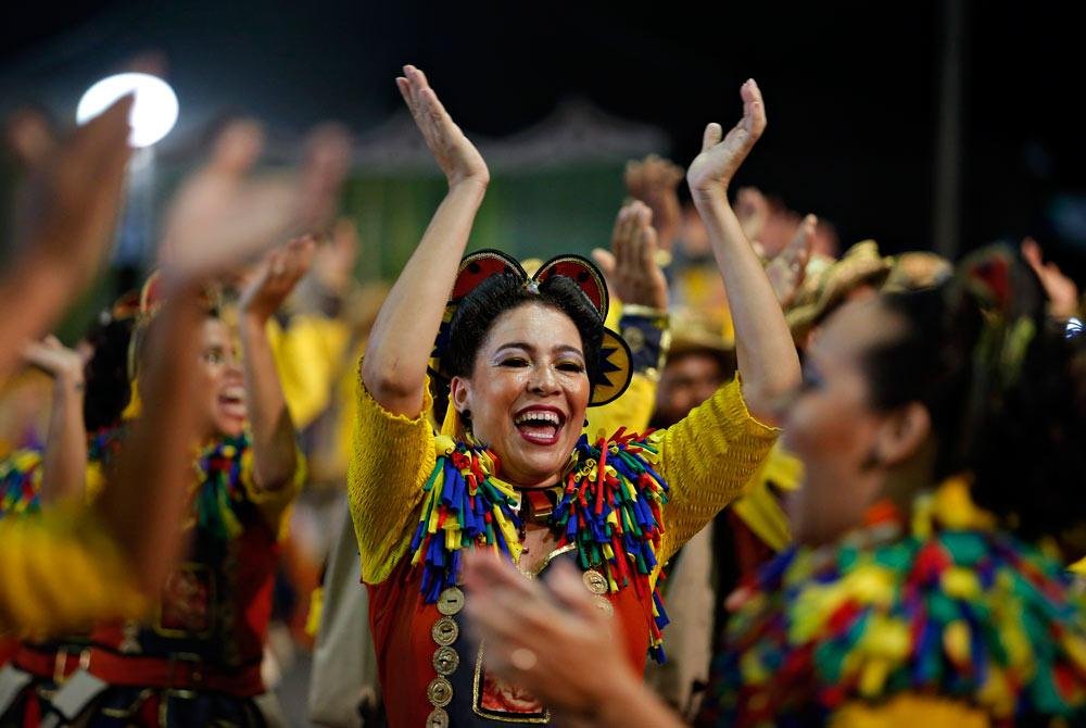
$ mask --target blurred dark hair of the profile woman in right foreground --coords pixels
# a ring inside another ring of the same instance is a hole
[[[1086,475],[1086,338],[1068,339],[1047,319],[1040,284],[1020,261],[1012,275],[1012,323],[1032,330],[1020,363],[986,346],[992,313],[958,277],[883,293],[880,304],[901,329],[871,347],[863,366],[875,409],[927,409],[934,477],[972,474],[978,504],[1035,538],[1082,522],[1074,505]]]

